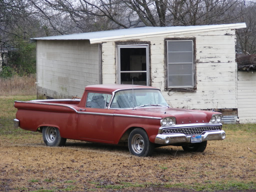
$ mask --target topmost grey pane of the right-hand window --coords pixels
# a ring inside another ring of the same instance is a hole
[[[192,51],[193,41],[168,41],[168,52]]]

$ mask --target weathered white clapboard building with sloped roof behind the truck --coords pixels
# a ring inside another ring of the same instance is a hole
[[[238,74],[236,63],[236,29],[245,27],[142,27],[33,38],[38,98],[81,97],[90,84],[133,80],[160,88],[174,108],[214,109],[256,122],[256,108],[251,113],[245,99],[250,77]]]

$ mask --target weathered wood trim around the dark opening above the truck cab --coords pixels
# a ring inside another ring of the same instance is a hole
[[[148,86],[152,85],[151,78],[151,42],[150,41],[116,41],[115,42],[115,65],[116,65],[116,82],[119,82],[119,69],[118,69],[118,46],[119,45],[147,45],[148,46]]]

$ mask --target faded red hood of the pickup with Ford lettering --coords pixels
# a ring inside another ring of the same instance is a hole
[[[147,111],[164,114],[166,117],[176,118],[176,124],[209,123],[212,114],[217,112],[203,110],[189,110],[177,108],[139,108],[139,111]]]

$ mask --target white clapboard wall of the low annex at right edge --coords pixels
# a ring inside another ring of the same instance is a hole
[[[256,123],[256,73],[238,71],[237,105],[240,123]]]

